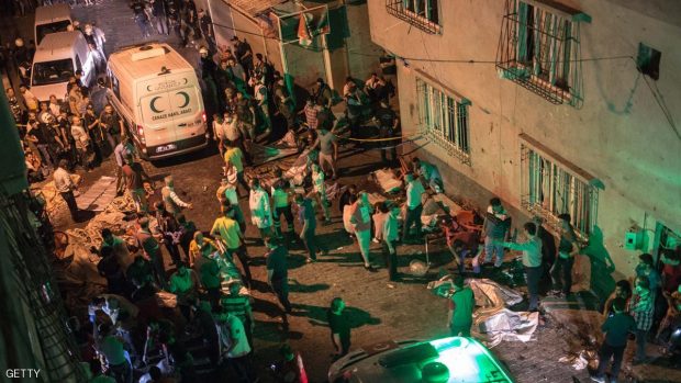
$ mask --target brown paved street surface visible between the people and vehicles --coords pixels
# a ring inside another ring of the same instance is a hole
[[[132,20],[132,12],[121,0],[107,0],[96,7],[79,7],[74,10],[81,24],[96,21],[107,33],[107,52],[116,46],[137,43],[139,31]],[[160,36],[153,36],[158,40]],[[174,37],[170,40],[174,42]],[[190,59],[196,59],[191,48],[182,49]],[[343,169],[340,182],[356,183],[362,188],[376,190],[368,180],[370,171],[382,166],[377,150],[360,151],[343,148],[339,168]],[[219,214],[215,190],[221,179],[222,160],[216,149],[209,148],[201,153],[172,158],[155,164],[145,164],[147,172],[160,184],[163,177],[172,174],[180,198],[193,204],[193,211],[187,212],[188,218],[196,222],[202,230],[209,230]],[[113,174],[112,159],[94,171],[82,174],[82,190],[87,190],[101,176]],[[247,200],[241,201],[242,209],[248,210]],[[434,267],[423,279],[406,278],[400,283],[389,284],[384,268],[377,273],[369,273],[362,268],[356,245],[343,230],[337,202],[332,207],[333,224],[320,226],[323,244],[331,250],[327,257],[321,257],[313,264],[305,264],[303,249],[291,248],[289,260],[291,296],[294,313],[284,328],[280,318],[280,308],[273,294],[268,292],[266,269],[261,255],[264,247],[249,247],[254,260],[252,270],[255,284],[255,356],[258,370],[266,374],[266,367],[277,359],[281,342],[289,341],[299,350],[305,361],[311,382],[323,382],[332,361],[333,347],[330,331],[325,325],[325,312],[335,296],[342,296],[348,304],[353,317],[353,345],[370,345],[387,339],[429,339],[446,336],[448,330],[447,302],[426,290],[427,281],[434,280],[439,268],[450,266],[450,257],[440,247],[432,249],[431,260]],[[60,228],[71,226],[69,223],[56,223]],[[247,237],[256,238],[257,232],[250,226]],[[379,246],[373,244],[372,256],[379,263]],[[406,272],[410,261],[425,260],[423,246],[404,246],[399,250],[402,272]],[[169,260],[167,260],[169,261]],[[574,382],[589,381],[587,370],[577,371],[571,365],[558,362],[568,352],[578,352],[584,348],[588,336],[580,334],[583,328],[570,326],[578,320],[579,311],[557,309],[546,317],[533,341],[527,343],[504,341],[492,351],[504,361],[518,382]],[[556,319],[555,319],[556,318]],[[590,324],[588,326],[594,326]],[[633,345],[629,345],[629,352]],[[637,381],[646,376],[646,382],[680,382],[681,373],[663,367],[647,367],[624,371]],[[267,379],[265,379],[267,381]]]

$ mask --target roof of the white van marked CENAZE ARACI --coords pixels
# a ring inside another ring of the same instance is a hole
[[[154,55],[148,58],[139,58],[145,52],[153,53],[164,49],[165,54]],[[179,53],[168,44],[149,43],[134,45],[114,52],[109,57],[109,65],[116,71],[116,77],[125,72],[131,79],[156,77],[163,67],[171,72],[181,70],[194,70],[193,67]]]

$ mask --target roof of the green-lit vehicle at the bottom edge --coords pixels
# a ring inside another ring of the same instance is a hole
[[[449,373],[447,383],[513,382],[501,363],[478,340],[448,337],[415,343],[401,343],[383,352],[345,363],[347,382],[413,383],[423,381],[428,363],[442,363]],[[334,382],[332,382],[334,383]]]

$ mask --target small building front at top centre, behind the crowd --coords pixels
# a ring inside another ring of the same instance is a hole
[[[317,78],[332,89],[342,88],[347,76],[368,78],[378,68],[380,48],[369,37],[364,2],[287,0],[202,0],[211,12],[219,46],[232,36],[246,38],[254,53],[295,82],[310,88]],[[300,20],[308,18],[311,34],[323,22],[326,33],[301,44]]]

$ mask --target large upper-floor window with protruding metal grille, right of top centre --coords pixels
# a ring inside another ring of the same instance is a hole
[[[505,7],[496,52],[501,76],[551,103],[580,108],[579,22],[590,18],[540,0],[506,0]]]

